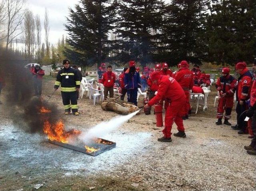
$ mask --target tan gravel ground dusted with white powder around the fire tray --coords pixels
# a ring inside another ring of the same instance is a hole
[[[44,82],[44,98],[50,95],[53,84],[52,80]],[[210,95],[209,105],[214,95]],[[100,104],[92,105],[85,97],[78,101],[78,117],[63,115],[60,92],[50,101],[58,104],[67,129],[86,131],[117,116],[102,111]],[[26,190],[28,180],[38,184],[42,177],[56,175],[118,177],[156,191],[256,190],[256,158],[243,149],[250,139],[226,125],[216,126],[215,108],[184,121],[187,137],[173,137],[172,143],[157,141],[162,137],[162,128],[155,126],[153,114],[136,115],[102,137],[116,142],[117,147],[96,157],[52,145],[44,136],[25,133],[12,123],[7,112],[11,109],[6,104],[0,106],[1,191]],[[176,125],[172,132],[177,132]]]

